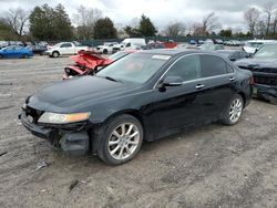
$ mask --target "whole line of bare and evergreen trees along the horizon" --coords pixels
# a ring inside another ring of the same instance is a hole
[[[253,7],[244,12],[248,32],[240,29],[222,29],[215,12],[205,15],[202,21],[185,23],[170,22],[163,30],[157,30],[151,19],[142,14],[125,27],[115,27],[102,11],[80,6],[72,19],[65,8],[59,3],[37,6],[28,12],[21,8],[10,9],[0,17],[0,40],[91,40],[114,39],[119,37],[184,37],[184,35],[222,35],[277,38],[277,3],[266,3],[263,8]]]

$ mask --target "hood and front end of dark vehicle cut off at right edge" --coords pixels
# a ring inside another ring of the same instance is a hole
[[[237,61],[236,65],[253,72],[255,96],[269,101],[277,98],[277,60],[247,59]]]

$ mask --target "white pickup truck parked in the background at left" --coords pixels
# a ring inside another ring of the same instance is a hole
[[[82,46],[78,42],[61,42],[54,46],[49,46],[45,54],[50,58],[59,58],[60,55],[74,55],[82,50],[88,51],[89,46]]]

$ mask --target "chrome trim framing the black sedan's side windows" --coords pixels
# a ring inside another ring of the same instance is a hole
[[[226,74],[219,74],[219,75],[216,75],[216,76],[207,76],[207,77],[201,77],[201,79],[184,81],[184,82],[182,82],[182,85],[184,85],[185,83],[191,83],[191,82],[195,82],[195,81],[205,81],[205,80],[211,80],[211,79],[214,79],[214,77],[224,77],[224,76],[228,76],[228,75],[236,74],[235,69],[234,69],[228,62],[226,62],[223,58],[220,58],[219,55],[213,55],[213,54],[208,54],[208,53],[185,54],[185,55],[179,56],[177,60],[175,60],[175,61],[167,67],[167,70],[160,76],[160,79],[157,80],[157,82],[155,83],[155,85],[154,85],[153,89],[156,89],[157,84],[161,82],[161,80],[163,80],[164,75],[172,69],[172,66],[173,66],[177,61],[179,61],[181,59],[183,59],[183,58],[185,58],[185,56],[192,56],[192,55],[212,55],[212,56],[219,58],[219,59],[222,59],[226,64],[228,64],[228,65],[233,69],[233,73],[226,73]]]

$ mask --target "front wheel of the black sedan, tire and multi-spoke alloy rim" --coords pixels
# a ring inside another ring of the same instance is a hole
[[[109,165],[120,165],[140,152],[143,127],[135,117],[121,115],[104,123],[94,139],[99,144],[96,153],[100,159]]]

